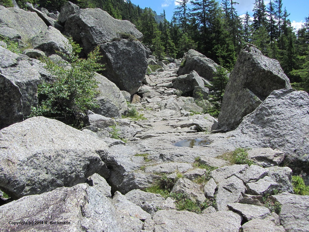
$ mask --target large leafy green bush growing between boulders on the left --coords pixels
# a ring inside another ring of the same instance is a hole
[[[87,109],[96,107],[93,102],[97,91],[95,72],[103,70],[98,61],[99,47],[88,54],[87,59],[78,57],[81,48],[69,38],[73,47],[69,57],[61,54],[71,62],[71,67],[64,68],[52,62],[49,58],[42,58],[45,68],[54,76],[53,82],[43,81],[38,85],[38,106],[32,108],[31,116],[45,116],[62,121],[80,128],[83,125],[83,113]]]

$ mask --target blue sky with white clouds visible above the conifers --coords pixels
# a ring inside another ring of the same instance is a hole
[[[135,5],[139,5],[142,8],[150,7],[159,15],[163,13],[165,9],[167,20],[171,20],[173,11],[176,8],[174,0],[131,0]],[[252,15],[254,0],[238,0],[239,5],[236,6],[239,15],[243,15],[248,11]],[[265,4],[269,0],[264,0]],[[294,28],[300,28],[301,23],[305,22],[305,17],[309,15],[309,0],[283,0],[283,9],[286,7],[288,13],[290,13],[290,20]]]

